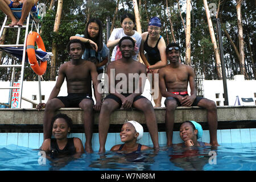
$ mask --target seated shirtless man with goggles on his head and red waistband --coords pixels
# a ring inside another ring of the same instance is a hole
[[[177,106],[200,106],[207,109],[207,121],[210,131],[210,144],[218,146],[217,142],[217,108],[214,101],[196,96],[195,72],[189,65],[181,64],[180,46],[171,43],[166,47],[167,59],[170,61],[166,67],[159,69],[159,88],[163,97],[166,97],[166,134],[167,145],[172,144],[172,131],[174,128],[174,113]],[[188,95],[188,82],[191,88]]]

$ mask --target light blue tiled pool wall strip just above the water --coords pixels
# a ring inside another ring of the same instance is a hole
[[[82,144],[85,144],[84,133],[73,133],[69,137],[77,137],[82,140]],[[164,146],[167,143],[166,133],[159,132],[159,144]],[[252,143],[256,142],[256,129],[232,129],[232,130],[217,130],[218,143]],[[204,130],[203,137],[199,139],[202,142],[210,142],[209,130]],[[174,131],[172,143],[181,143],[182,140],[179,137],[179,131]],[[9,144],[16,144],[18,146],[28,148],[39,148],[43,143],[43,133],[0,133],[0,146],[6,146]],[[115,144],[121,144],[119,133],[109,133],[106,140],[106,150],[110,150]],[[152,140],[150,134],[145,132],[143,138],[139,140],[139,143],[152,146]],[[94,151],[100,148],[98,142],[98,133],[93,134],[92,147]]]

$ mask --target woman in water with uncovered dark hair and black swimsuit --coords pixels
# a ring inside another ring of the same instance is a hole
[[[72,119],[66,114],[57,114],[52,118],[52,135],[54,138],[44,140],[41,150],[46,151],[51,156],[73,155],[84,153],[81,139],[67,138],[71,131]]]

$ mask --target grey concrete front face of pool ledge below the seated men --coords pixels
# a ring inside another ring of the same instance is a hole
[[[83,111],[80,108],[61,108],[56,113],[64,113],[72,118],[73,124],[83,124]],[[156,107],[155,115],[158,123],[165,122],[166,107]],[[44,111],[36,109],[0,109],[1,125],[42,125]],[[99,113],[94,115],[94,124],[98,124]],[[217,106],[218,122],[223,121],[256,121],[256,106]],[[115,110],[110,116],[110,124],[123,124],[135,120],[145,123],[144,114],[138,110]],[[200,107],[177,107],[175,123],[187,120],[207,121],[207,111]],[[256,127],[256,126],[255,126]]]

